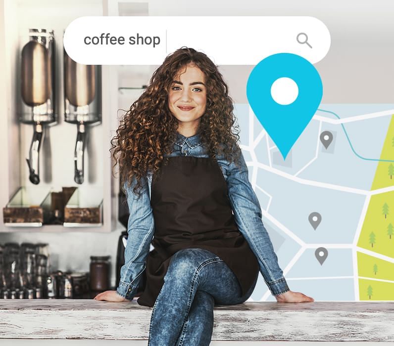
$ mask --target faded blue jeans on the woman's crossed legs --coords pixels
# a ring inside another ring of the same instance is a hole
[[[152,308],[148,346],[207,346],[212,337],[213,306],[244,303],[234,272],[212,252],[182,249],[172,256]]]

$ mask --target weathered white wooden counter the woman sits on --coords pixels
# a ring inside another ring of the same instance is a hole
[[[1,300],[0,338],[147,340],[136,301]],[[394,302],[217,305],[212,340],[394,341]]]

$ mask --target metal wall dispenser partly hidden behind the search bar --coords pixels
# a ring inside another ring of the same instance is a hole
[[[77,184],[84,182],[86,125],[101,123],[100,78],[101,66],[79,64],[64,50],[64,120],[78,126],[74,152],[74,181]]]

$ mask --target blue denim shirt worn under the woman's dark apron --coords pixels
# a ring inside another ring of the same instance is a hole
[[[173,156],[209,157],[198,134],[185,137],[180,133],[177,134],[174,150],[169,155],[169,157]],[[265,283],[276,296],[289,291],[289,287],[261,220],[261,207],[249,182],[242,154],[240,161],[241,167],[237,167],[234,162],[229,163],[224,158],[217,157],[219,167],[227,181],[228,196],[238,229],[256,256]],[[140,199],[133,193],[136,181],[133,181],[130,187],[125,186],[130,217],[124,254],[125,264],[120,269],[120,282],[116,292],[127,300],[132,300],[137,293],[154,235],[154,219],[150,205],[151,181],[152,174],[148,173],[142,182],[144,187]]]

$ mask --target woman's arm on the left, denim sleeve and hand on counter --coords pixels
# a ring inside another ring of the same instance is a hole
[[[97,300],[121,302],[133,300],[138,284],[146,267],[150,243],[154,233],[154,220],[150,206],[148,181],[142,181],[141,197],[133,193],[134,180],[130,187],[124,185],[129,206],[128,237],[125,248],[125,264],[120,268],[120,282],[116,291],[105,291],[95,297]]]

